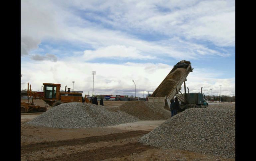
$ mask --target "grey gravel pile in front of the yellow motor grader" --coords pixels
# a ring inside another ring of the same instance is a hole
[[[44,112],[28,124],[55,128],[85,128],[118,125],[139,121],[122,111],[88,103],[64,103]]]

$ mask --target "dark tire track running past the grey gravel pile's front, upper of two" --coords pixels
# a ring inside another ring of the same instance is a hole
[[[69,139],[69,140],[58,140],[58,141],[46,141],[34,144],[21,145],[21,154],[31,153],[32,151],[44,150],[48,148],[54,148],[59,146],[74,146],[74,145],[85,145],[89,143],[99,142],[99,141],[111,141],[111,140],[119,140],[129,137],[136,137],[150,131],[129,131],[122,133],[113,133],[101,136],[91,136],[85,138],[78,139]]]

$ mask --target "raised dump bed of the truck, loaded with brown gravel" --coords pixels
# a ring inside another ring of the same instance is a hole
[[[190,61],[182,60],[178,62],[148,98],[148,102],[170,109],[170,100],[174,99],[174,96],[179,93],[183,82],[187,81],[187,76],[192,71]]]

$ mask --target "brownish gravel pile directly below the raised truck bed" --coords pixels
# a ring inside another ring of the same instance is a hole
[[[128,101],[118,108],[111,108],[111,110],[123,111],[140,120],[167,120],[171,118],[170,111],[147,101]]]

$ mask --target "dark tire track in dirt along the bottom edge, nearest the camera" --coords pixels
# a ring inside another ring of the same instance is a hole
[[[43,161],[62,161],[62,160],[77,160],[77,161],[95,161],[108,158],[124,157],[132,153],[140,153],[153,149],[154,147],[144,145],[140,142],[132,142],[124,145],[115,145],[111,147],[102,147],[95,150],[86,150],[69,155],[57,156],[54,158],[42,159]]]

